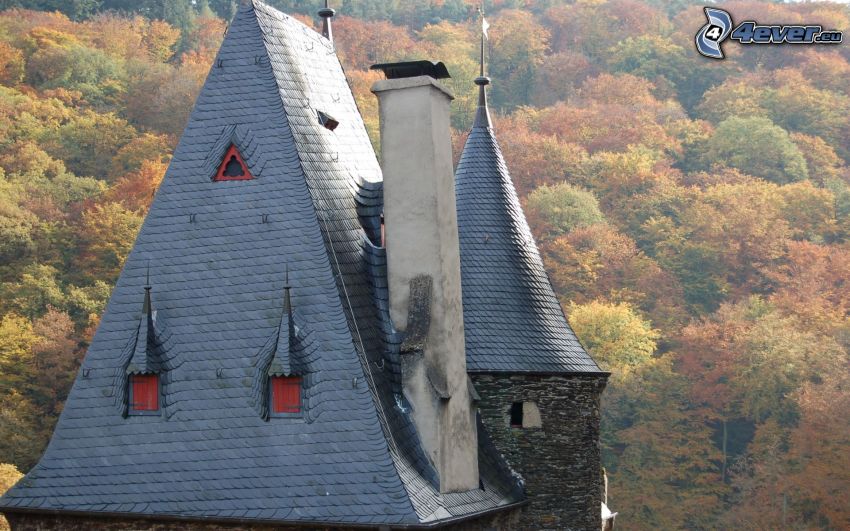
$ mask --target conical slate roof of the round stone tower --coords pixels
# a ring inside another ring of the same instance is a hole
[[[455,172],[467,369],[602,373],[543,269],[490,122],[483,66],[475,82],[478,111]]]

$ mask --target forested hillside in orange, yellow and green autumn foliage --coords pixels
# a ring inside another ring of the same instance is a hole
[[[318,0],[270,3],[316,23]],[[477,4],[332,3],[376,145],[368,67],[427,57],[453,75],[459,151]],[[850,30],[837,4],[724,6]],[[233,5],[0,8],[0,463],[26,471]],[[618,525],[850,528],[850,45],[728,44],[712,61],[688,1],[485,8],[499,141],[570,323],[612,372]]]

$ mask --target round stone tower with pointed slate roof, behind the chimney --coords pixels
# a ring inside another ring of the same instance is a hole
[[[496,141],[482,37],[478,110],[456,171],[467,368],[481,419],[525,481],[524,529],[600,529],[608,374],[564,317]]]

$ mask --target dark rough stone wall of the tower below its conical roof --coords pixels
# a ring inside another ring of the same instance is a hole
[[[490,437],[525,480],[530,504],[518,529],[601,529],[599,399],[606,378],[479,374],[472,380]],[[514,402],[536,403],[540,427],[511,427]]]

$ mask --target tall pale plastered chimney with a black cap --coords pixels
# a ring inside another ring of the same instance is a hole
[[[466,375],[460,246],[442,63],[375,65],[381,119],[390,315],[405,332],[402,379],[441,492],[479,487]]]

